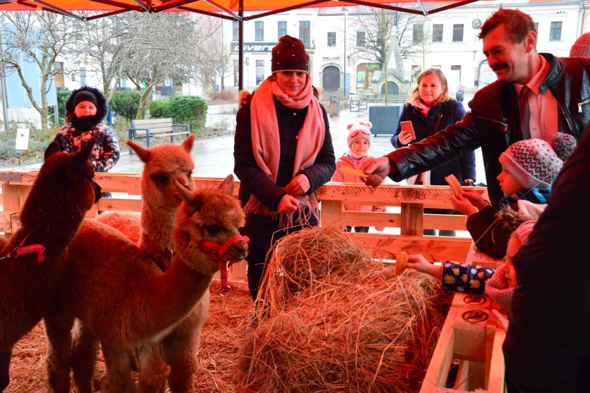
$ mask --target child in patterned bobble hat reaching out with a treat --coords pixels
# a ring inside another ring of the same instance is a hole
[[[451,198],[454,208],[467,216],[467,231],[479,250],[494,258],[506,254],[515,227],[541,215],[551,184],[574,148],[574,137],[562,132],[553,136],[552,143],[524,139],[508,147],[499,159],[502,172],[497,179],[504,194],[499,212],[473,189]]]

